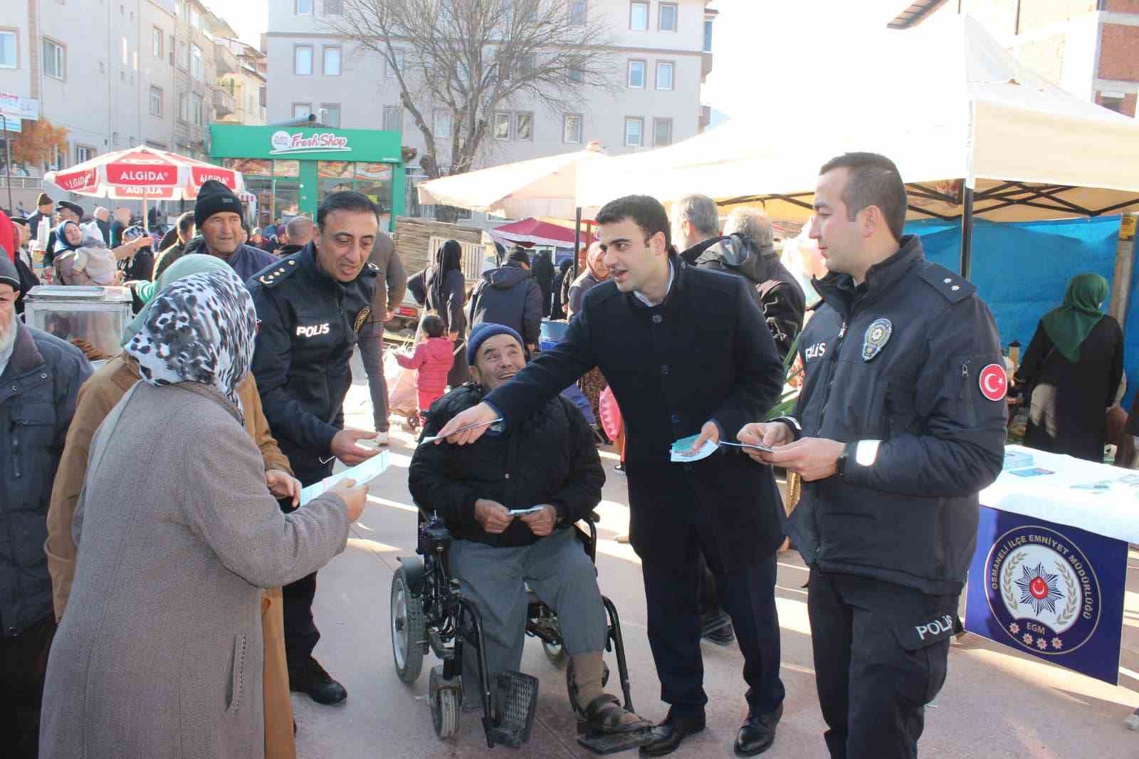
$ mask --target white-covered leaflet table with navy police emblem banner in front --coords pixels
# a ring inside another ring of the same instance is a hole
[[[981,491],[965,628],[1116,684],[1139,472],[1008,446]]]

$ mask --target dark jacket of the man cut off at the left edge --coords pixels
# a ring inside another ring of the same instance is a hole
[[[16,326],[0,374],[0,635],[19,635],[52,613],[43,544],[48,501],[75,414],[91,376],[82,351],[39,329]]]

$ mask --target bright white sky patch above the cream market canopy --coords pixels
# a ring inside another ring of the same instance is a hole
[[[702,101],[727,115],[778,108],[781,92],[823,82],[852,36],[882,31],[909,0],[714,0],[712,73]],[[829,55],[828,55],[829,54]]]

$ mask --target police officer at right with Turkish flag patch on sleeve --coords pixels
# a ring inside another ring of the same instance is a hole
[[[751,424],[757,460],[803,478],[790,516],[811,568],[816,684],[833,759],[911,759],[945,682],[976,545],[977,493],[1000,473],[1005,368],[967,280],[902,236],[906,186],[885,156],[820,171],[811,237],[830,274],[798,351],[793,417]]]

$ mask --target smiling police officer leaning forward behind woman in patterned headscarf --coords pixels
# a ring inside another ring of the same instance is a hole
[[[376,289],[378,269],[368,255],[378,217],[364,195],[333,193],[317,211],[313,240],[247,283],[261,320],[253,354],[261,403],[303,485],[331,474],[334,459],[354,466],[377,452],[357,446],[375,432],[343,429],[343,403],[357,332]],[[347,691],[312,656],[320,639],[312,619],[316,593],[316,572],[282,591],[289,686],[318,703],[339,703]]]

